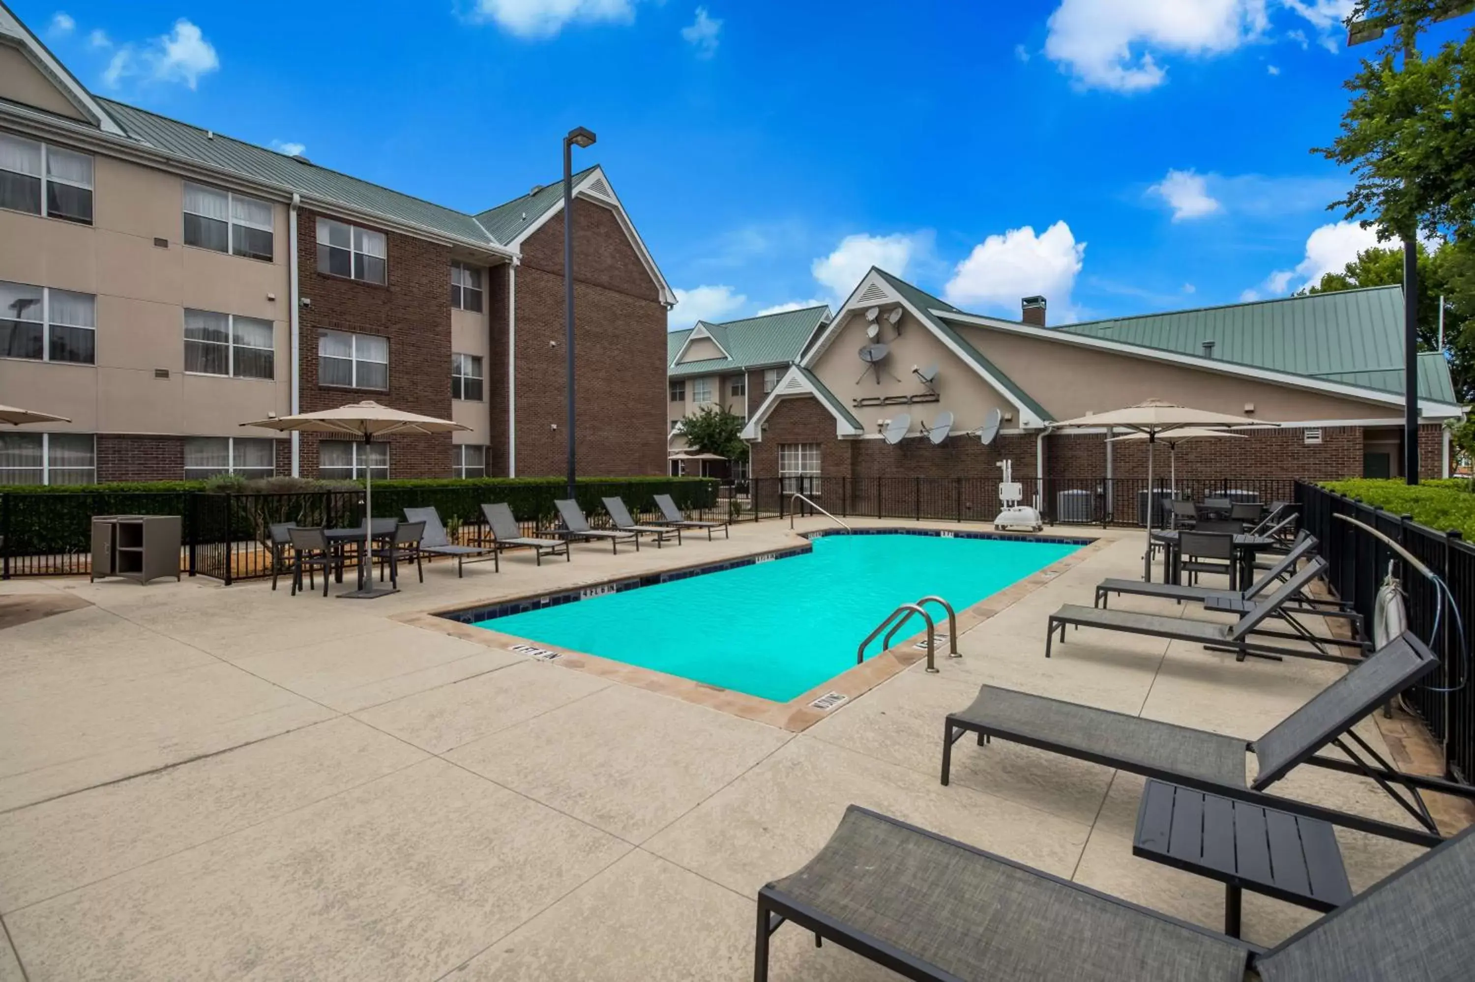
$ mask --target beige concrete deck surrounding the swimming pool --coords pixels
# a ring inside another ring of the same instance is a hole
[[[1339,674],[1090,631],[1046,661],[1050,610],[1140,575],[1140,531],[1080,532],[1102,546],[966,630],[962,659],[802,733],[406,622],[771,550],[786,522],[463,579],[435,563],[370,603],[285,581],[0,584],[68,599],[0,630],[0,982],[745,979],[757,889],[851,802],[1217,927],[1221,886],[1131,857],[1140,779],[963,742],[938,784],[943,717],[982,681],[1257,737]],[[1360,733],[1388,746],[1372,720]],[[1279,790],[1403,820],[1341,774]],[[1420,852],[1339,836],[1354,889]],[[1258,944],[1313,917],[1245,896]],[[785,927],[773,978],[895,976]]]

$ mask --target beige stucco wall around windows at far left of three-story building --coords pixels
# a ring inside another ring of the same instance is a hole
[[[0,279],[96,295],[97,364],[0,360],[6,401],[103,433],[248,435],[239,423],[289,411],[286,206],[273,262],[223,255],[181,243],[180,177],[105,156],[93,170],[91,227],[0,211]],[[186,307],[271,320],[276,379],[184,376]]]

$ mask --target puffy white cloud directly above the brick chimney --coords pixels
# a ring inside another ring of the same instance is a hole
[[[1019,314],[1019,298],[1041,293],[1052,311],[1074,317],[1071,289],[1086,258],[1086,243],[1077,242],[1063,221],[1041,231],[1010,229],[988,236],[957,264],[943,298],[959,307],[993,307]]]

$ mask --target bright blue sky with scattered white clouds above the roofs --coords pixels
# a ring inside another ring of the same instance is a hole
[[[1326,211],[1348,0],[7,0],[94,91],[465,211],[574,125],[671,326],[844,298],[872,262],[1052,320],[1286,293]]]

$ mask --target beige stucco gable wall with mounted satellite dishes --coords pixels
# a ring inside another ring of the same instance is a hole
[[[897,327],[900,327],[900,333]],[[1015,405],[984,382],[975,369],[953,354],[937,335],[912,314],[906,314],[897,327],[882,323],[879,341],[889,345],[891,351],[881,363],[879,382],[876,372],[860,360],[860,349],[870,344],[866,335],[866,318],[860,313],[847,316],[838,327],[839,333],[810,367],[820,382],[835,394],[835,398],[854,413],[867,432],[875,432],[876,420],[895,419],[901,413],[910,413],[910,432],[920,433],[922,420],[931,422],[943,411],[953,413],[954,432],[978,429],[984,425],[984,417],[991,408],[1013,416],[1010,422],[1004,423],[1004,429],[1019,425]],[[858,398],[925,394],[926,386],[912,373],[912,367],[932,364],[938,366],[935,382],[941,395],[938,403],[856,405],[854,401]]]

